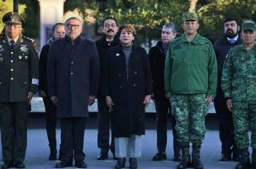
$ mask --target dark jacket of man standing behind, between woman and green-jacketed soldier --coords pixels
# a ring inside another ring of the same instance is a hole
[[[149,50],[149,62],[152,73],[152,86],[155,101],[166,99],[164,91],[165,54],[162,49],[162,44],[163,42],[159,41],[157,45],[153,46]]]

